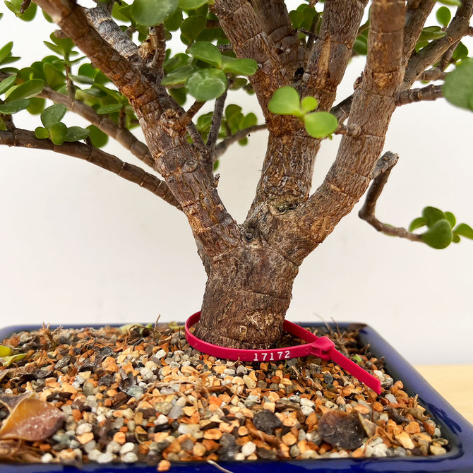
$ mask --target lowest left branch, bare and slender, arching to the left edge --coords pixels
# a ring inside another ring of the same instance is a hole
[[[118,157],[110,155],[108,152],[104,152],[94,146],[85,145],[78,141],[54,145],[51,140],[40,140],[36,138],[35,133],[32,131],[20,128],[16,128],[13,131],[0,131],[0,145],[49,150],[59,152],[62,155],[78,157],[80,160],[88,161],[102,167],[102,169],[113,172],[117,176],[123,177],[127,181],[138,184],[181,210],[179,203],[169,191],[164,181],[145,172],[140,167],[123,162]]]

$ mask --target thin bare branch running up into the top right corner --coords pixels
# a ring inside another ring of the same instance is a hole
[[[455,17],[448,25],[446,35],[431,41],[428,46],[422,48],[417,54],[412,54],[407,63],[404,84],[402,88],[407,90],[421,76],[426,68],[441,60],[450,46],[469,35],[469,19],[473,14],[473,0],[463,0],[462,6],[457,8]]]

